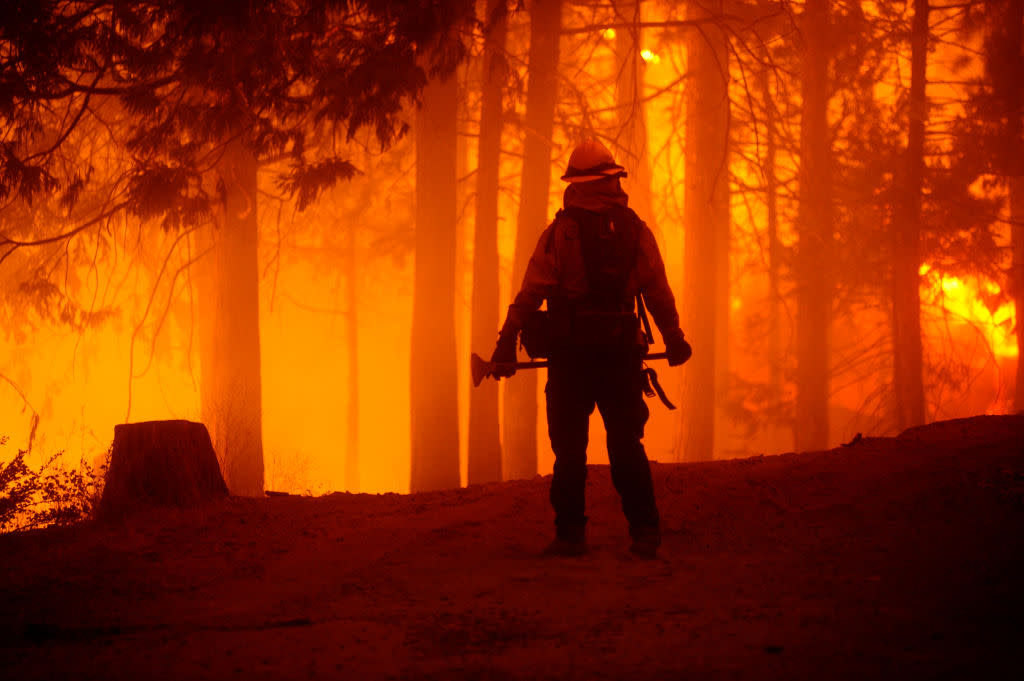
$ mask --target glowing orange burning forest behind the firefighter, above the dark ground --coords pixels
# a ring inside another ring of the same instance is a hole
[[[1022,11],[11,0],[2,461],[188,419],[238,495],[550,472],[543,375],[472,389],[469,355],[589,136],[694,347],[652,459],[1021,411]]]

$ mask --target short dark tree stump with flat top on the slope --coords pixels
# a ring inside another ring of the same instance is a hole
[[[98,517],[154,506],[186,508],[227,497],[210,433],[191,421],[144,421],[114,427]]]

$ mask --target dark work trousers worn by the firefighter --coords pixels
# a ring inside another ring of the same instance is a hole
[[[595,405],[607,431],[611,481],[631,529],[657,527],[650,465],[640,441],[650,416],[642,382],[641,360],[635,353],[588,350],[551,357],[545,393],[555,453],[551,505],[560,537],[582,538],[587,522],[587,442]]]

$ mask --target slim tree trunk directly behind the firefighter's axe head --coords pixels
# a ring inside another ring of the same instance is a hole
[[[488,0],[483,42],[483,86],[480,141],[477,151],[476,231],[473,238],[473,348],[495,343],[499,321],[498,191],[502,145],[502,93],[505,86],[506,0]],[[470,390],[469,484],[502,479],[502,444],[498,416],[498,382],[484,381]]]

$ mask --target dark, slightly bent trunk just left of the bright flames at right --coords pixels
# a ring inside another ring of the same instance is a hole
[[[899,430],[925,423],[921,340],[921,203],[925,173],[928,0],[913,0],[909,127],[903,193],[893,225],[893,378]]]

